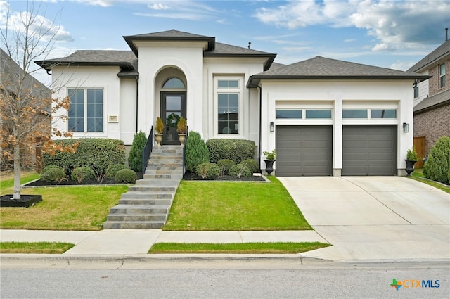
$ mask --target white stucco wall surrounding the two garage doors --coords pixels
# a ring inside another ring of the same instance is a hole
[[[275,148],[276,130],[269,132],[271,121],[276,125],[333,125],[333,175],[340,175],[342,125],[397,125],[397,168],[404,174],[406,151],[413,146],[412,84],[413,80],[262,81],[261,151]],[[276,120],[277,107],[328,108],[332,119]],[[343,120],[342,108],[395,108],[397,119]],[[403,122],[409,123],[408,133],[402,132]]]

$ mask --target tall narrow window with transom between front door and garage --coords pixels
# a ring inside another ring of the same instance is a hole
[[[217,134],[239,134],[239,85],[239,79],[217,79]]]

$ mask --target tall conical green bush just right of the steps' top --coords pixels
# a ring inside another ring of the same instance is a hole
[[[198,132],[189,132],[186,142],[186,170],[195,172],[198,165],[210,162],[210,153]]]

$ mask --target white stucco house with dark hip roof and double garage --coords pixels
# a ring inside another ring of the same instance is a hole
[[[203,139],[250,139],[264,169],[276,148],[276,175],[404,174],[413,143],[413,89],[428,75],[315,57],[292,65],[276,54],[169,30],[124,37],[131,51],[76,51],[37,61],[65,83],[75,137],[132,142],[158,116],[162,144],[185,116]]]

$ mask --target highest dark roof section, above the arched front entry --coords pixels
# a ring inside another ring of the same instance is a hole
[[[146,34],[137,34],[137,35],[129,35],[124,37],[125,41],[131,48],[131,50],[138,56],[138,49],[134,45],[133,41],[135,40],[149,40],[149,41],[200,41],[207,42],[208,50],[212,50],[216,47],[216,38],[215,37],[206,37],[205,35],[192,34],[189,32],[182,32],[178,30],[168,30],[161,32],[153,32]]]

